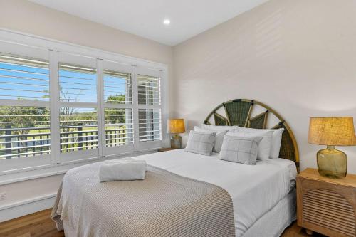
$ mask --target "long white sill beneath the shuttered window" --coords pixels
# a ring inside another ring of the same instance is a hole
[[[116,159],[122,157],[135,157],[141,154],[150,154],[155,153],[160,149],[160,147],[153,148],[153,149],[145,149],[139,152],[128,152],[124,154],[116,154],[112,156],[108,156],[105,158],[92,158],[92,159],[84,159],[78,162],[68,162],[64,164],[53,164],[50,167],[33,167],[31,170],[12,172],[9,174],[3,174],[0,176],[0,186],[5,184],[12,184],[20,181],[26,181],[30,179],[39,179],[43,177],[49,177],[58,174],[66,174],[69,169],[73,169],[75,167],[79,167],[84,164],[90,164],[94,162],[102,162],[107,159]]]

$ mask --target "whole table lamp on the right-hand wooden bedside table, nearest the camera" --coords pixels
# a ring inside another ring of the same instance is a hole
[[[335,146],[355,145],[353,117],[310,117],[308,143],[323,144],[317,153],[320,175],[342,178],[347,174],[347,155]]]

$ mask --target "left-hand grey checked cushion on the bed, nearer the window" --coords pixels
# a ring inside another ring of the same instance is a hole
[[[209,156],[213,150],[214,142],[215,132],[209,134],[190,131],[185,151]]]

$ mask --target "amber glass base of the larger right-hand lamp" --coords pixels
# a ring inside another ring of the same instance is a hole
[[[320,175],[332,178],[343,178],[347,174],[347,155],[328,146],[317,153],[318,172]]]

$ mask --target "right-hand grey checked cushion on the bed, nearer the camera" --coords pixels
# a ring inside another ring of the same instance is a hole
[[[263,137],[258,136],[224,136],[220,159],[242,164],[256,164],[258,144]]]

